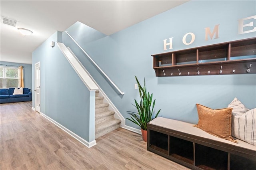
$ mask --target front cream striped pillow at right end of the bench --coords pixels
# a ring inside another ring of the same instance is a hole
[[[235,115],[232,125],[233,136],[256,146],[256,108],[242,115]]]

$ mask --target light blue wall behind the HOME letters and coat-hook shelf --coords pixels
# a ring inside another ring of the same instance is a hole
[[[77,45],[63,33],[62,41],[77,55],[86,69],[124,117],[138,99],[134,75],[156,99],[161,117],[197,123],[196,103],[213,109],[227,107],[237,97],[249,109],[256,107],[256,74],[156,77],[152,54],[241,40],[256,32],[238,35],[238,20],[256,15],[255,1],[190,1],[125,30],[105,36],[79,22],[67,29],[114,83],[122,96],[106,81]],[[253,21],[256,26],[255,20]],[[219,38],[205,41],[205,28],[219,26]],[[193,32],[194,43],[184,45],[183,36]],[[173,38],[173,49],[163,51],[163,40]],[[130,121],[126,125],[138,128]]]

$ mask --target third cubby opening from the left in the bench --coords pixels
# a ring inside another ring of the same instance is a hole
[[[226,170],[228,168],[228,152],[196,144],[195,166],[208,170]]]

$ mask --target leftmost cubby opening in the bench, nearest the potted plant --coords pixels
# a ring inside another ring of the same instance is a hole
[[[154,130],[149,130],[150,132],[150,148],[168,154],[168,135]]]

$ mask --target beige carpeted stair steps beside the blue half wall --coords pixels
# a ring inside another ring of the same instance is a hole
[[[114,111],[108,110],[108,104],[103,103],[104,97],[95,92],[95,138],[103,136],[120,128],[121,120],[114,118]]]

